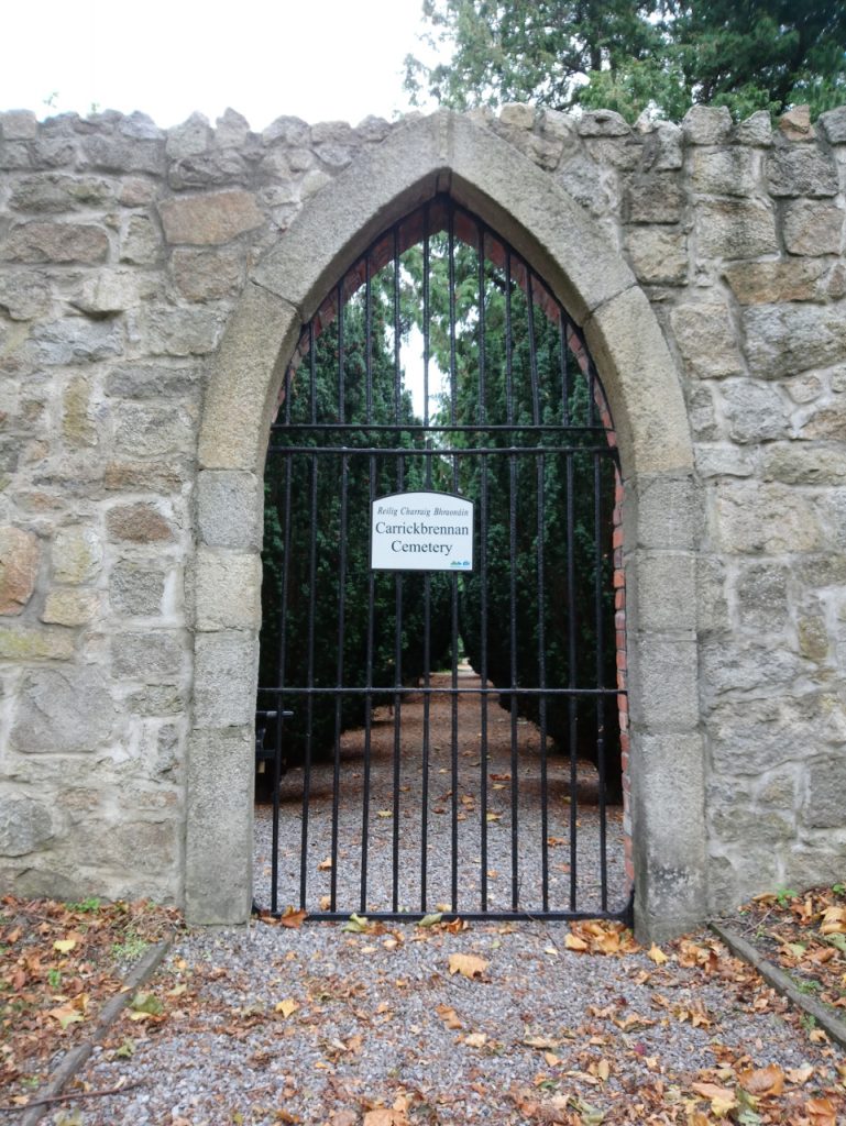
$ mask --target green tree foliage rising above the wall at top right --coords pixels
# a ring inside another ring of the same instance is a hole
[[[466,109],[531,101],[643,110],[678,120],[694,104],[736,118],[846,100],[840,0],[425,0],[445,63],[406,60],[412,99]]]

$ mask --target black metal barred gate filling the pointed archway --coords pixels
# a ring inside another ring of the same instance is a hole
[[[616,449],[543,280],[447,197],[386,231],[301,337],[265,490],[262,906],[627,919]]]

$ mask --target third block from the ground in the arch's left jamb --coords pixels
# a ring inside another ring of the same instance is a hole
[[[199,631],[258,629],[261,625],[261,556],[201,547],[194,565],[194,626]]]

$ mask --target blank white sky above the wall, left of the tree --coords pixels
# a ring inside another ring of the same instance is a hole
[[[226,106],[256,131],[408,108],[422,0],[5,0],[0,109],[140,109],[167,128]],[[53,106],[45,102],[53,95]]]

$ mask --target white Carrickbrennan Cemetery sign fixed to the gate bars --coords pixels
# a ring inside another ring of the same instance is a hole
[[[371,506],[374,571],[472,571],[473,502],[453,493],[393,493]]]

